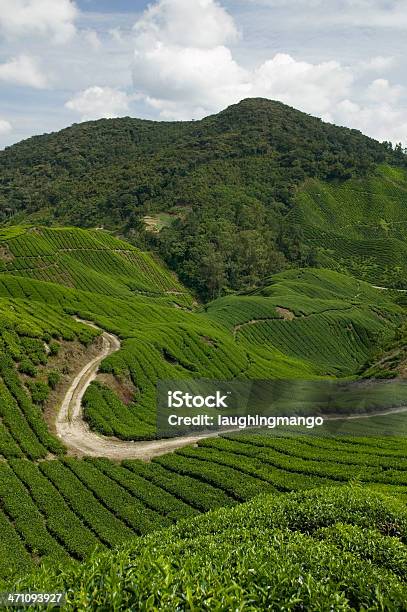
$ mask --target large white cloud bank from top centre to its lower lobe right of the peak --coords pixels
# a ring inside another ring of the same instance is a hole
[[[226,46],[237,36],[230,15],[213,0],[199,0],[194,11],[191,4],[160,0],[134,28],[134,87],[161,118],[200,118],[250,96],[325,113],[348,95],[353,77],[337,62],[311,64],[277,54],[245,69]],[[223,26],[210,30],[210,24]]]

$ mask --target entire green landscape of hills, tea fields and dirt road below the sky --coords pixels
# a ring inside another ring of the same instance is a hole
[[[243,101],[19,143],[0,153],[3,201],[0,590],[227,609],[237,564],[242,609],[404,609],[400,153]],[[305,382],[361,392],[326,435],[159,439],[157,383],[201,378],[287,381],[300,415]]]

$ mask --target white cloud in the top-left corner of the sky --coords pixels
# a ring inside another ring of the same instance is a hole
[[[0,31],[7,37],[51,37],[64,43],[75,32],[79,14],[71,0],[0,0]]]

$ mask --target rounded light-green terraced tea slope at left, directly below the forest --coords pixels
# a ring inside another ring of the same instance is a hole
[[[182,301],[188,297],[175,275],[150,255],[104,231],[12,228],[0,231],[0,244],[1,275],[120,298],[173,294]]]

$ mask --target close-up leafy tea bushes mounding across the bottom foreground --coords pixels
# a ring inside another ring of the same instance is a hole
[[[404,505],[360,487],[261,496],[182,521],[20,590],[67,610],[406,610]]]

